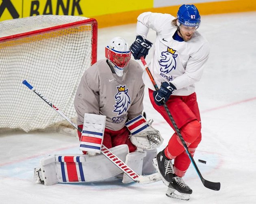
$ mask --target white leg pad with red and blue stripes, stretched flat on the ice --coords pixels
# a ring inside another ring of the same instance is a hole
[[[113,154],[125,161],[129,153],[126,144],[110,148]],[[44,185],[56,183],[79,183],[104,180],[122,172],[103,154],[89,155],[50,155],[40,162]]]

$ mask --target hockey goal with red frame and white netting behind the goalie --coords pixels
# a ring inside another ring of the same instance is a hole
[[[63,121],[31,92],[26,79],[75,118],[80,78],[97,60],[97,21],[80,16],[38,15],[0,22],[0,132],[45,129]]]

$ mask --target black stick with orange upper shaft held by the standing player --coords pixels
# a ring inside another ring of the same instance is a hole
[[[155,80],[154,80],[154,77],[152,76],[152,73],[150,72],[150,69],[149,69],[149,67],[148,67],[148,65],[147,65],[147,62],[145,61],[145,59],[144,59],[143,56],[141,57],[141,62],[142,62],[142,64],[144,65],[145,70],[146,70],[146,72],[148,73],[148,76],[150,77],[150,80],[151,80],[151,82],[152,82],[154,88],[156,89],[156,91],[158,91],[159,88],[158,88],[158,86],[157,86],[157,84],[156,84],[156,82],[155,82]],[[179,136],[179,138],[180,138],[180,141],[182,142],[182,144],[183,144],[183,146],[184,146],[184,148],[185,148],[185,151],[187,152],[187,155],[189,156],[189,159],[190,159],[191,163],[192,163],[193,166],[195,167],[195,171],[197,172],[198,176],[200,177],[200,179],[201,179],[203,185],[204,185],[206,188],[208,188],[208,189],[212,189],[212,190],[215,190],[215,191],[219,191],[219,189],[220,189],[220,183],[219,183],[219,182],[218,182],[218,183],[215,183],[215,182],[211,182],[211,181],[205,180],[205,179],[203,178],[202,174],[200,173],[200,171],[199,171],[199,169],[198,169],[198,167],[197,167],[197,165],[196,165],[196,163],[195,163],[195,160],[193,159],[193,157],[191,156],[191,154],[190,154],[190,152],[189,152],[189,149],[188,149],[188,147],[187,147],[187,144],[185,143],[185,141],[184,141],[184,139],[183,139],[183,137],[182,137],[182,135],[181,135],[181,133],[180,133],[180,130],[178,129],[178,127],[177,127],[177,125],[176,125],[176,123],[175,123],[175,121],[174,121],[174,118],[171,116],[171,113],[170,113],[169,108],[167,107],[165,101],[163,101],[163,106],[165,107],[165,110],[166,110],[166,112],[167,112],[167,114],[168,114],[168,116],[169,116],[169,118],[170,118],[170,120],[171,120],[171,123],[172,123],[172,125],[174,126],[175,131],[176,131],[176,133],[178,134],[178,136]]]

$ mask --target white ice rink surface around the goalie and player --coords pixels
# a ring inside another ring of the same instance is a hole
[[[168,198],[162,181],[147,185],[123,184],[116,179],[72,185],[34,184],[33,169],[40,159],[57,153],[80,153],[79,141],[74,136],[59,133],[16,132],[0,134],[0,203],[256,203],[255,25],[256,12],[249,12],[202,16],[199,28],[210,42],[211,53],[202,79],[196,84],[202,142],[194,159],[205,179],[221,183],[220,191],[205,188],[193,165],[184,177],[193,189],[189,201]],[[136,24],[99,29],[98,59],[104,58],[104,47],[113,37],[124,37],[131,44],[135,30]],[[154,37],[154,32],[150,31],[148,39],[154,42]],[[38,100],[41,99],[38,97]],[[153,126],[165,139],[158,149],[162,150],[174,131],[153,109],[147,90],[144,107],[148,118],[154,119]],[[198,159],[207,163],[198,163]]]

